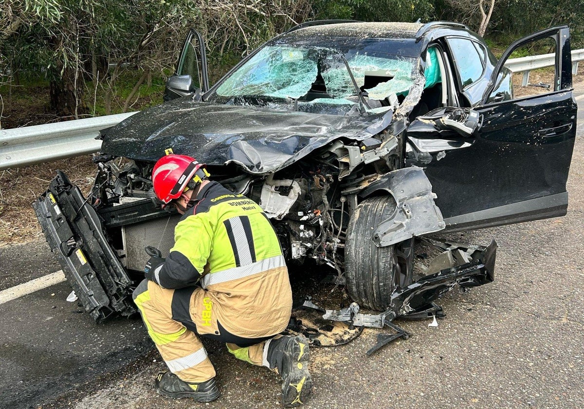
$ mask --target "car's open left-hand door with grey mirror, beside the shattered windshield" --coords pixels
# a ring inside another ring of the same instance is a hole
[[[209,89],[207,56],[203,36],[190,30],[186,37],[175,73],[166,81],[164,100],[181,96],[201,94]]]

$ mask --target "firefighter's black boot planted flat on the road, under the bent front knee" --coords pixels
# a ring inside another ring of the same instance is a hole
[[[214,377],[205,382],[188,383],[165,370],[158,374],[154,383],[158,394],[173,399],[189,397],[197,402],[210,402],[221,394]]]

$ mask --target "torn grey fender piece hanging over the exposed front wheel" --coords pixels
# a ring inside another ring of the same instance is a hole
[[[359,196],[366,199],[380,190],[394,198],[395,211],[373,231],[371,240],[377,247],[434,233],[446,226],[434,203],[432,184],[422,168],[413,166],[389,172],[363,189]]]

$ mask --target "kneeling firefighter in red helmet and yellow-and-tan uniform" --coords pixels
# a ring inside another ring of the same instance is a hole
[[[163,206],[182,218],[166,259],[152,257],[134,302],[169,371],[155,385],[171,398],[216,399],[215,370],[200,339],[283,378],[282,403],[310,394],[307,341],[277,335],[288,324],[292,292],[286,262],[262,209],[207,179],[204,165],[184,155],[161,158],[152,171]]]

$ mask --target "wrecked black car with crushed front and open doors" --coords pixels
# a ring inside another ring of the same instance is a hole
[[[553,84],[515,96],[505,61],[542,39],[554,45]],[[193,30],[167,102],[102,131],[89,195],[59,172],[33,206],[86,311],[129,316],[144,248],[164,256],[173,245],[179,215],[159,207],[151,183],[172,148],[259,203],[288,263],[328,266],[361,307],[386,311],[378,320],[415,316],[455,285],[491,282],[496,249],[436,244],[442,261],[420,274],[416,237],[566,213],[571,83],[566,26],[497,60],[456,23],[310,22],[212,87]]]

